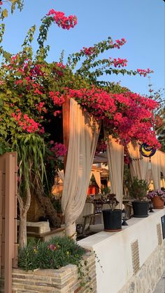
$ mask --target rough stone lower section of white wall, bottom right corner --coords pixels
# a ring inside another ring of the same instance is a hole
[[[152,293],[165,271],[165,240],[118,293]]]

